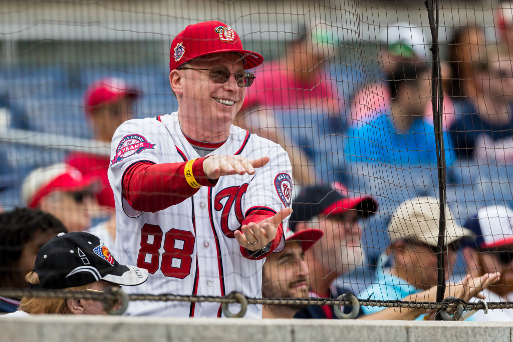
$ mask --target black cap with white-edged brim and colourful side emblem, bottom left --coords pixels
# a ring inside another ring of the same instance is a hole
[[[119,264],[98,237],[86,232],[60,233],[37,253],[33,271],[40,283],[32,289],[60,290],[98,280],[139,285],[148,270]]]

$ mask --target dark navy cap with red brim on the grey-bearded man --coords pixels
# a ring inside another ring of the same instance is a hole
[[[357,210],[360,217],[368,217],[378,210],[378,202],[368,195],[349,197],[344,189],[329,185],[314,185],[303,188],[292,203],[289,227],[295,231],[298,222],[307,222],[319,214],[336,215]]]

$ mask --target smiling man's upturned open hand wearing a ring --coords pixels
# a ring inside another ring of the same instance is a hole
[[[274,216],[264,219],[259,224],[251,222],[248,225],[243,225],[241,230],[235,231],[235,238],[242,247],[250,251],[258,251],[276,237],[278,226],[291,213],[291,208],[283,208]]]

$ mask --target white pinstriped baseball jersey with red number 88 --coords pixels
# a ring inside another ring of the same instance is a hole
[[[192,197],[167,209],[136,211],[122,197],[125,170],[142,160],[182,163],[200,157],[180,129],[177,113],[134,119],[112,139],[109,182],[116,203],[116,259],[149,270],[146,283],[125,287],[129,293],[223,296],[239,291],[261,297],[261,260],[245,258],[233,232],[252,210],[277,212],[290,206],[292,179],[287,153],[277,144],[231,126],[226,142],[209,155],[240,154],[270,161],[253,175],[219,178]],[[283,222],[285,231],[287,220]],[[275,251],[284,245],[283,234]],[[231,306],[230,306],[231,308]],[[231,308],[237,312],[236,306]],[[130,315],[221,316],[219,303],[133,301]],[[261,306],[248,306],[246,318],[261,318]]]

